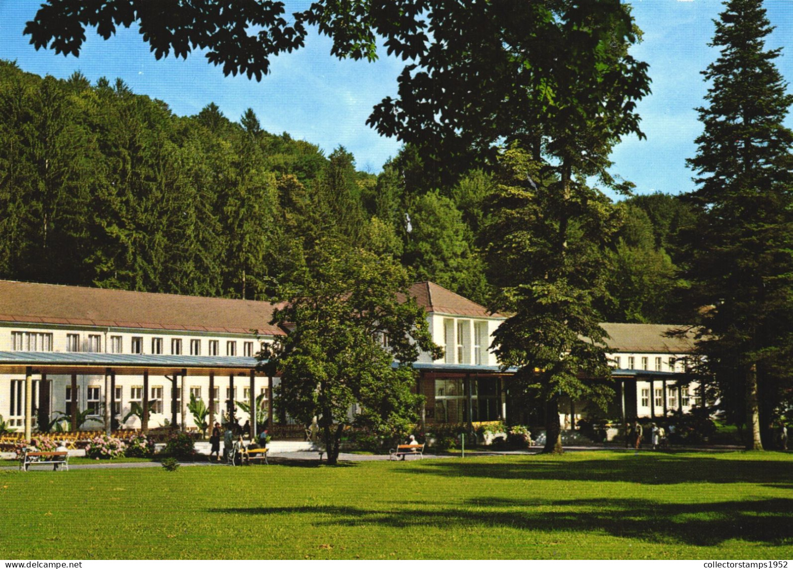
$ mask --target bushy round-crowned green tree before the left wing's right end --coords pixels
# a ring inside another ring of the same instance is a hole
[[[338,460],[355,403],[362,407],[358,421],[380,433],[401,435],[417,418],[412,363],[419,350],[434,358],[441,350],[409,285],[407,271],[392,258],[326,240],[311,275],[282,290],[285,306],[273,323],[289,333],[263,356],[281,377],[282,408],[307,425],[319,418],[328,463]]]

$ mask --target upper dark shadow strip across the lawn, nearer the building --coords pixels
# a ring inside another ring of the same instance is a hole
[[[536,456],[498,464],[445,460],[419,465],[427,474],[489,479],[580,480],[589,482],[790,483],[789,460],[728,459],[716,456],[678,456],[645,452],[625,453],[610,459],[576,459],[575,456]]]

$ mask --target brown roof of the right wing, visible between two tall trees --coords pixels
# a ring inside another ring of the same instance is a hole
[[[687,353],[694,350],[695,330],[691,326],[674,324],[601,324],[610,336],[608,348],[615,352]],[[668,334],[685,331],[684,336]]]

